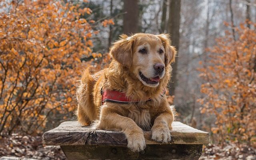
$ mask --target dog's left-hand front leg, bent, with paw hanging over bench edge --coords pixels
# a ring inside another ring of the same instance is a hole
[[[134,152],[140,152],[146,148],[146,142],[142,129],[128,117],[121,116],[110,108],[101,110],[98,128],[121,131],[126,135],[128,145]]]

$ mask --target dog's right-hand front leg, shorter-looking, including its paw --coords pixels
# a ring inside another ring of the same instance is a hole
[[[152,140],[169,143],[171,140],[170,130],[172,129],[173,121],[172,112],[163,112],[156,117],[152,126]]]

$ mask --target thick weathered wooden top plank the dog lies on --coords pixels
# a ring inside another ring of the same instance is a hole
[[[208,132],[192,128],[181,122],[173,122],[170,131],[172,144],[208,144]],[[161,144],[151,140],[150,132],[144,132],[146,144]],[[81,126],[77,121],[63,122],[57,128],[45,132],[43,144],[50,146],[67,145],[99,145],[126,146],[127,140],[123,133],[106,130],[93,130],[88,126]]]

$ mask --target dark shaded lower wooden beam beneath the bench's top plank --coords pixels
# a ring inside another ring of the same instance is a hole
[[[198,160],[202,144],[150,144],[144,152],[132,152],[129,148],[114,146],[61,146],[69,160]]]

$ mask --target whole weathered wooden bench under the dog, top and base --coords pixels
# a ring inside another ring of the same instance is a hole
[[[43,144],[59,145],[69,160],[84,159],[198,159],[202,154],[203,144],[209,143],[207,132],[197,130],[181,122],[173,122],[170,131],[172,142],[162,144],[150,138],[150,132],[144,132],[146,149],[132,152],[126,147],[127,140],[123,133],[106,130],[92,130],[81,126],[77,121],[63,122],[43,135]]]

